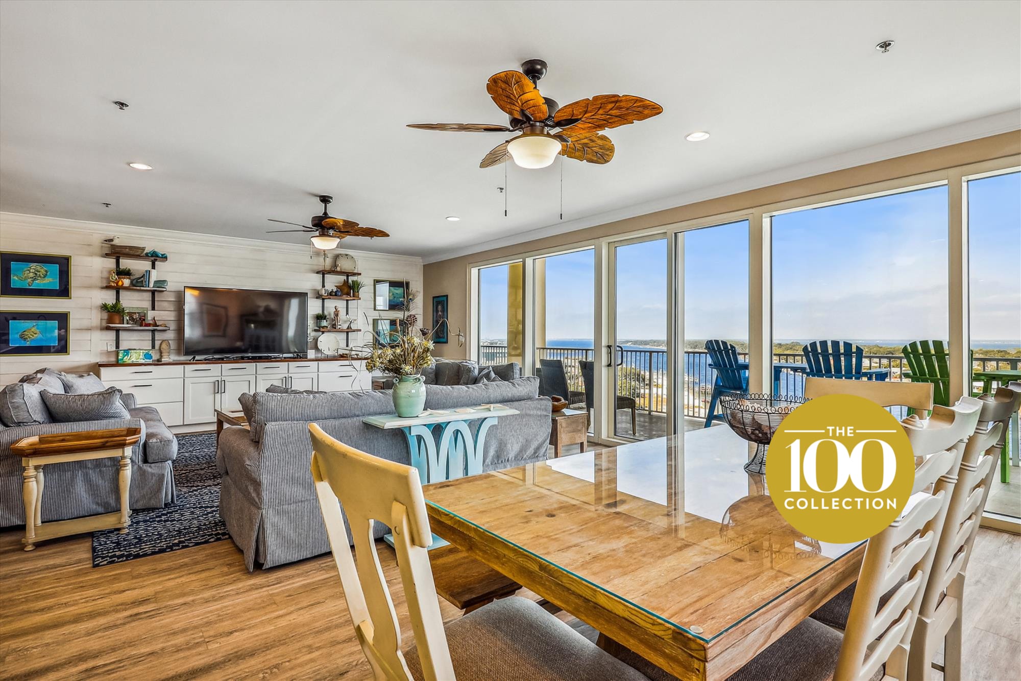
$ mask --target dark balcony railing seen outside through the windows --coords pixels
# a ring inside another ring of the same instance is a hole
[[[667,413],[670,380],[667,374],[667,351],[657,349],[630,349],[618,346],[616,353],[617,392],[634,398],[640,411]],[[739,353],[741,359],[747,355]],[[506,346],[482,346],[480,364],[503,364],[507,361]],[[536,348],[536,359],[558,359],[564,362],[568,387],[572,391],[583,391],[579,360],[593,360],[591,348]],[[774,362],[804,363],[800,353],[773,355]],[[1016,357],[973,357],[975,371],[1013,369],[1021,367],[1021,358]],[[709,353],[704,350],[684,352],[684,415],[706,418],[716,371],[709,368]],[[900,355],[866,355],[863,368],[889,369],[888,380],[910,380],[905,372],[908,364]],[[976,383],[976,389],[979,388]],[[780,374],[780,394],[801,396],[805,394],[805,374],[784,370]]]

